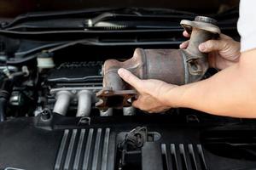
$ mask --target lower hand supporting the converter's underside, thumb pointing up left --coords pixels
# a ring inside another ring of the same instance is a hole
[[[169,104],[170,99],[168,99],[166,94],[172,88],[177,87],[176,85],[154,79],[141,80],[130,71],[122,68],[119,69],[118,73],[119,77],[137,90],[137,100],[132,102],[134,107],[149,113],[167,111],[172,108],[172,105]]]

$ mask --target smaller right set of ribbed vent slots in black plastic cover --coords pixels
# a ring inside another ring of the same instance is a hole
[[[161,144],[164,170],[207,170],[201,144]]]

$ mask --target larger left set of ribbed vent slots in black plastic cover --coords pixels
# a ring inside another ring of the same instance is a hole
[[[55,170],[107,170],[109,140],[110,128],[66,129]]]

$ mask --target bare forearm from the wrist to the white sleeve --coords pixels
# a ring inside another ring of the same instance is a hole
[[[256,117],[255,52],[241,62],[203,80],[171,89],[170,105],[237,117]]]

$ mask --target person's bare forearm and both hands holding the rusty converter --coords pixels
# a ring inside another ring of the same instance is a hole
[[[203,42],[199,49],[210,52],[210,65],[222,71],[200,82],[177,86],[141,80],[125,69],[119,69],[119,76],[137,89],[138,98],[132,105],[143,111],[187,107],[219,116],[255,118],[256,48],[240,54],[238,44],[224,35]],[[186,48],[186,42],[181,48]]]

